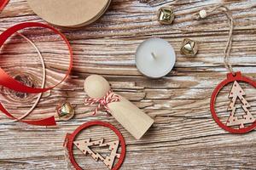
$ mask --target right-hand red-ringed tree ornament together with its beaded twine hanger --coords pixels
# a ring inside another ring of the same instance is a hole
[[[208,16],[211,16],[214,13],[224,13],[227,17],[227,20],[229,22],[230,31],[229,31],[229,37],[226,43],[226,46],[224,48],[224,65],[226,69],[230,72],[227,74],[227,79],[225,79],[223,82],[218,84],[217,88],[214,89],[212,93],[211,103],[210,103],[210,109],[212,112],[212,118],[215,122],[217,122],[219,127],[222,127],[224,130],[230,132],[230,133],[248,133],[252,131],[256,127],[256,121],[251,114],[250,111],[248,111],[247,108],[250,107],[246,99],[244,99],[244,91],[240,87],[238,82],[246,82],[247,84],[250,84],[253,86],[253,88],[256,88],[256,82],[254,82],[252,79],[248,77],[241,76],[241,72],[235,72],[233,70],[233,67],[230,63],[230,52],[232,48],[232,39],[233,39],[233,31],[234,31],[234,19],[232,16],[232,12],[229,8],[224,6],[224,4],[216,5],[213,8],[208,8],[201,10],[198,14],[195,14],[194,17],[196,20],[202,20],[206,19]],[[230,105],[228,107],[228,111],[230,111],[230,117],[227,120],[227,122],[224,124],[222,121],[220,121],[220,118],[218,117],[216,111],[215,111],[215,102],[216,98],[222,88],[224,86],[228,85],[229,83],[233,83],[233,86],[230,91],[229,98],[232,98]],[[236,100],[241,100],[241,108],[243,111],[245,111],[245,114],[242,115],[242,118],[238,118],[236,116]],[[249,124],[247,127],[244,126],[245,124]],[[236,126],[239,126],[239,128],[236,128]]]

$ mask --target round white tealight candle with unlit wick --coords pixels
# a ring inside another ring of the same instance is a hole
[[[172,71],[176,55],[172,45],[160,38],[150,38],[137,48],[137,69],[146,77],[160,78]]]

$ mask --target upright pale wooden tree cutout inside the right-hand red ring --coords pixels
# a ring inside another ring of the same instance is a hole
[[[229,95],[229,98],[231,98],[231,101],[228,107],[228,111],[231,111],[231,113],[230,113],[229,119],[226,122],[226,125],[228,127],[239,125],[239,128],[244,128],[245,124],[255,122],[255,118],[253,117],[251,112],[248,111],[248,108],[250,108],[251,105],[249,105],[247,100],[244,99],[243,97],[244,95],[246,95],[245,92],[242,90],[239,83],[235,81],[233,83],[233,86],[231,88],[230,95]],[[236,116],[236,109],[239,108],[238,106],[236,106],[237,98],[240,99],[242,104],[239,107],[241,107],[245,112],[245,114],[242,115],[242,118],[240,119],[238,118],[238,116]]]

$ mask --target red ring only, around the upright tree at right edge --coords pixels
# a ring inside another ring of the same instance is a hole
[[[211,103],[210,103],[212,118],[214,119],[215,122],[217,122],[219,127],[222,127],[224,130],[226,130],[230,133],[248,133],[256,127],[256,121],[253,122],[253,124],[249,127],[244,127],[244,128],[240,128],[240,129],[231,128],[231,127],[226,126],[223,122],[221,122],[219,120],[219,118],[217,116],[217,113],[215,111],[215,101],[216,101],[216,98],[218,96],[218,93],[220,92],[220,90],[222,88],[224,88],[224,86],[228,85],[230,82],[235,82],[235,81],[237,81],[237,82],[247,82],[248,84],[252,85],[253,88],[256,88],[256,82],[254,82],[253,80],[251,80],[248,77],[241,76],[240,71],[236,72],[235,76],[232,73],[229,73],[227,75],[227,79],[225,79],[223,82],[218,84],[217,88],[215,88],[213,93],[212,93],[212,98],[211,98]]]

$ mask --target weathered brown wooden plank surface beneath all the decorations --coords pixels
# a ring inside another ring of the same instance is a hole
[[[95,24],[79,31],[65,31],[74,50],[73,74],[67,82],[44,94],[30,118],[55,115],[55,105],[70,101],[76,116],[58,122],[56,128],[32,127],[22,123],[0,125],[0,169],[65,169],[62,143],[66,133],[91,120],[113,123],[124,134],[127,155],[121,169],[256,169],[256,132],[230,134],[212,120],[209,111],[214,87],[225,78],[224,44],[229,30],[224,14],[204,21],[191,20],[201,8],[227,3],[236,27],[232,63],[236,71],[256,80],[256,1],[113,0],[107,14]],[[161,26],[156,20],[160,6],[171,4],[176,20]],[[75,10],[75,9],[73,9]],[[24,21],[40,21],[25,0],[11,0],[0,14],[0,27]],[[180,28],[189,31],[182,31]],[[47,64],[47,85],[61,80],[67,69],[67,49],[60,38],[45,30],[23,32],[38,45]],[[134,54],[138,44],[149,37],[162,37],[177,51],[177,63],[167,77],[150,80],[136,69]],[[179,54],[180,42],[189,37],[200,42],[196,57]],[[35,86],[41,83],[38,54],[25,40],[14,37],[1,52],[0,65],[13,76],[28,75]],[[135,140],[112,117],[103,113],[91,116],[85,107],[84,78],[96,73],[106,77],[113,90],[131,99],[155,123],[147,135]],[[243,85],[247,100],[256,114],[256,90]],[[226,109],[229,87],[221,94],[219,106]],[[250,93],[248,93],[250,92]],[[1,102],[17,114],[32,105],[35,95],[15,94],[1,88]],[[44,114],[44,115],[42,115]],[[6,121],[1,115],[1,122]],[[93,133],[97,138],[105,131]],[[84,169],[104,169],[90,157],[80,157]]]

